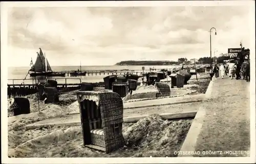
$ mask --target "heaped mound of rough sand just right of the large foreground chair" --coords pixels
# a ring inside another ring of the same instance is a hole
[[[139,120],[123,133],[128,146],[142,149],[133,157],[173,156],[189,130],[190,120],[168,121],[159,115]]]

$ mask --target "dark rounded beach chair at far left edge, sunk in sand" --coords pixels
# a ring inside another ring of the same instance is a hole
[[[25,97],[15,97],[12,99],[12,102],[9,108],[10,108],[10,111],[13,112],[13,116],[30,114],[29,99]]]

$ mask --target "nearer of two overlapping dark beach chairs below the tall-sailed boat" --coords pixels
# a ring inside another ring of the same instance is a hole
[[[55,87],[45,87],[44,94],[42,97],[45,97],[45,103],[54,103],[59,101],[58,90]]]

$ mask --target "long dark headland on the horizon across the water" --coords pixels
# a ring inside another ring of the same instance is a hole
[[[180,62],[175,61],[121,61],[115,66],[165,66],[165,65],[179,65]]]

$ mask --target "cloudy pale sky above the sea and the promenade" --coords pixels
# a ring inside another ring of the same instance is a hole
[[[10,8],[8,66],[29,66],[39,47],[51,66],[198,59],[212,27],[212,55],[250,48],[250,20],[247,6]]]

